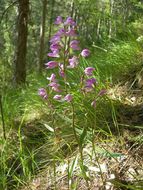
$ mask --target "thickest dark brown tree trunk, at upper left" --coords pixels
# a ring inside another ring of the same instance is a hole
[[[18,0],[18,37],[15,60],[14,79],[16,85],[26,81],[26,52],[27,52],[27,35],[28,35],[28,13],[29,0]]]

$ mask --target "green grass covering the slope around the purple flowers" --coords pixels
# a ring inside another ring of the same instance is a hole
[[[115,81],[126,73],[134,64],[139,64],[137,59],[140,48],[136,43],[122,42],[107,47],[107,52],[93,49],[93,55],[86,62],[80,60],[80,64],[96,67],[98,88],[111,88]],[[79,72],[82,66],[79,67]],[[79,77],[70,74],[74,81]],[[70,105],[61,107],[53,112],[48,105],[37,95],[37,89],[47,85],[44,76],[31,74],[28,76],[28,84],[24,88],[12,89],[9,86],[3,91],[3,112],[6,126],[6,140],[1,135],[0,140],[0,189],[19,189],[31,181],[40,171],[46,167],[52,167],[54,186],[58,188],[57,174],[60,163],[67,162],[68,185],[70,189],[77,189],[78,181],[73,181],[74,171],[77,165],[82,171],[82,178],[90,181],[85,163],[81,163],[76,156],[73,160],[68,159],[77,151],[78,143],[74,139],[72,129],[72,113]],[[117,121],[116,109],[119,102],[104,96],[97,101],[96,109],[91,107],[89,100],[82,102],[74,84],[71,87],[76,95],[75,120],[76,133],[80,139],[82,148],[91,145],[95,160],[99,167],[102,184],[105,185],[104,173],[102,172],[99,152],[95,147],[95,141],[99,140],[104,147],[104,141],[122,138]],[[90,97],[89,97],[90,99]],[[82,102],[82,104],[81,104]],[[55,103],[56,104],[56,103]],[[2,125],[2,124],[1,124]],[[2,131],[1,131],[2,134]],[[114,144],[114,143],[113,143]],[[112,146],[112,145],[111,145]],[[110,155],[109,157],[116,157]],[[92,157],[92,156],[91,156]],[[83,158],[84,159],[84,158]],[[84,171],[84,172],[83,172]],[[121,182],[118,182],[121,183]],[[124,183],[116,184],[126,186]],[[131,186],[131,185],[130,185]],[[135,186],[131,189],[139,189]]]

